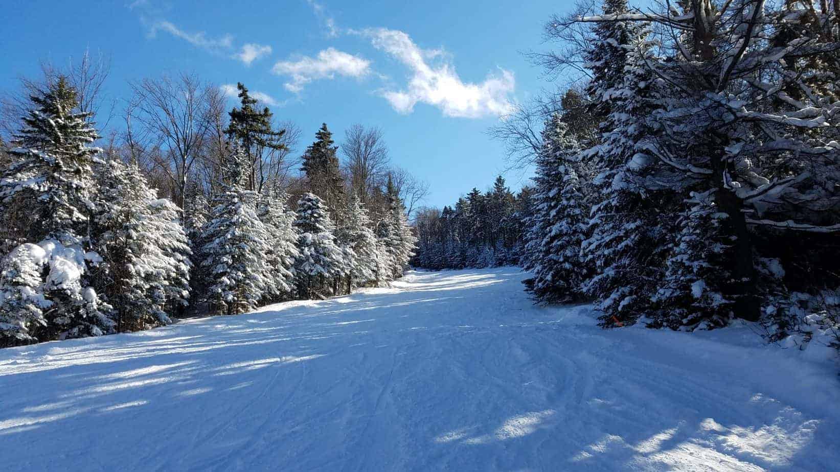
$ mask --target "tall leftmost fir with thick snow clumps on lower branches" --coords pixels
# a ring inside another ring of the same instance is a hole
[[[0,268],[5,274],[0,282],[0,312],[7,318],[3,327],[17,327],[8,333],[24,342],[108,333],[114,325],[110,307],[90,280],[92,266],[101,261],[87,237],[92,165],[100,151],[91,147],[98,137],[91,114],[75,111],[76,91],[64,77],[30,102],[22,129],[14,135],[13,163],[0,179],[3,211],[27,212],[26,218],[17,219],[18,241],[26,244],[13,249]],[[33,271],[39,273],[38,284],[33,283]],[[16,285],[20,277],[27,280],[24,286]],[[24,310],[7,307],[24,299],[34,304]],[[22,317],[24,313],[29,315]]]

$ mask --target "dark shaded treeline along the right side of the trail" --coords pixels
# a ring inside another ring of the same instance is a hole
[[[549,21],[559,50],[532,57],[585,87],[540,104],[542,134],[528,110],[493,130],[533,144],[539,301],[594,301],[606,327],[737,317],[837,343],[840,21],[821,5],[605,0]]]

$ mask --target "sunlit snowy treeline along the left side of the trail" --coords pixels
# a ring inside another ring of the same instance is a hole
[[[403,197],[414,204],[425,187],[390,168],[378,130],[350,128],[342,163],[324,124],[296,176],[293,128],[242,84],[223,118],[215,87],[181,76],[135,84],[125,128],[106,141],[93,82],[73,72],[24,82],[29,97],[4,103],[0,347],[402,276],[416,241]]]

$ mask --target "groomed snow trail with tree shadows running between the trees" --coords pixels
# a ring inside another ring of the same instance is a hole
[[[515,268],[0,350],[4,470],[836,470],[837,366],[604,331]]]

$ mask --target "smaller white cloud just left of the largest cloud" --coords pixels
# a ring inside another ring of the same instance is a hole
[[[299,93],[314,80],[332,79],[336,75],[360,78],[370,72],[370,60],[328,48],[317,57],[303,56],[299,60],[281,60],[272,71],[278,76],[290,76],[283,84],[289,92]]]

